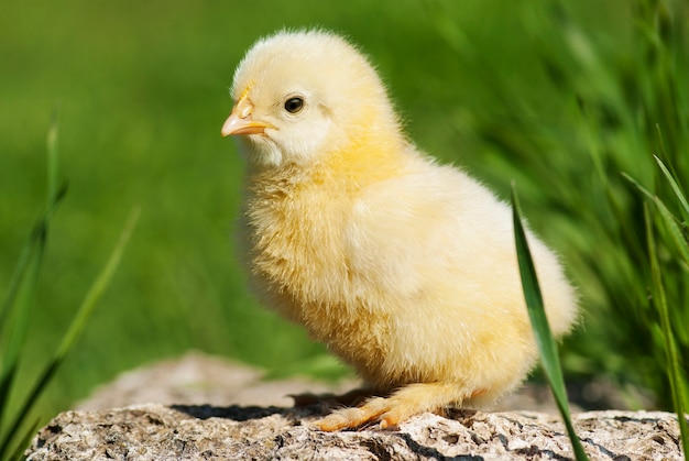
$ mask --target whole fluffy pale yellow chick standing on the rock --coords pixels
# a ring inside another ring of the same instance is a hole
[[[493,402],[537,350],[510,208],[409,142],[369,61],[324,31],[259,41],[234,74],[222,135],[247,158],[240,219],[261,299],[302,323],[379,394],[322,430]],[[577,301],[528,234],[547,316]]]

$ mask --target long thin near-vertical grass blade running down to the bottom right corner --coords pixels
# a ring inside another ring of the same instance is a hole
[[[650,211],[648,210],[647,204],[644,205],[644,219],[646,222],[648,257],[650,260],[650,274],[653,278],[653,304],[658,309],[658,314],[660,316],[660,328],[663,330],[663,338],[665,340],[665,352],[667,354],[667,374],[670,382],[675,410],[677,411],[677,421],[679,424],[679,432],[682,450],[685,452],[685,460],[689,461],[689,427],[687,426],[687,419],[685,416],[686,402],[685,392],[682,389],[679,354],[677,352],[677,344],[675,344],[675,337],[670,327],[670,316],[667,308],[667,297],[665,296],[663,274],[660,272],[660,264],[658,263],[656,243],[653,233],[653,224],[650,222]]]

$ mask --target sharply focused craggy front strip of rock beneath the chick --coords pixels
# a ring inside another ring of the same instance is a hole
[[[299,408],[136,405],[65,411],[33,439],[29,460],[540,460],[570,459],[564,425],[543,413],[424,414],[394,430],[322,432],[326,404]],[[676,416],[590,411],[573,417],[592,460],[679,460]]]

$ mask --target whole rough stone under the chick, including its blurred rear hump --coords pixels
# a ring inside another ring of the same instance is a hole
[[[331,406],[287,408],[288,395],[341,394],[357,381],[265,381],[264,375],[199,352],[145,365],[55,417],[26,454],[31,460],[561,460],[572,454],[543,385],[529,383],[491,408],[510,413],[456,410],[447,418],[422,415],[396,430],[371,426],[327,433],[310,422]],[[605,382],[569,393],[581,407],[624,406]],[[680,459],[675,415],[591,411],[575,420],[591,459]]]

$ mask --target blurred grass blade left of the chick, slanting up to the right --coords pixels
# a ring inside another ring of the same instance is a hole
[[[31,408],[36,403],[41,394],[43,393],[43,389],[52,380],[52,377],[55,375],[55,372],[65,360],[65,356],[67,355],[67,353],[74,345],[74,343],[76,342],[77,338],[80,336],[81,331],[84,330],[84,327],[86,326],[86,321],[88,320],[90,314],[94,310],[94,307],[96,306],[97,301],[100,299],[106,288],[110,284],[110,281],[112,279],[114,271],[118,267],[120,260],[122,257],[124,246],[127,245],[127,242],[139,219],[139,215],[140,215],[139,208],[134,208],[130,212],[129,218],[127,219],[127,223],[124,224],[124,229],[122,230],[122,233],[120,234],[119,241],[114,250],[110,254],[110,259],[108,260],[106,266],[103,267],[99,276],[96,278],[94,284],[91,285],[88,293],[86,294],[86,297],[84,298],[84,301],[81,303],[76,317],[72,321],[69,329],[63,337],[63,340],[59,347],[57,348],[55,355],[44,369],[43,373],[41,374],[41,377],[36,380],[34,387],[29,393],[20,410],[14,416],[14,419],[12,424],[10,425],[10,429],[8,430],[8,433],[4,436],[4,438],[0,442],[0,459],[3,458],[4,452],[8,449],[10,441],[19,431],[22,422],[29,416],[29,411],[31,411]]]

